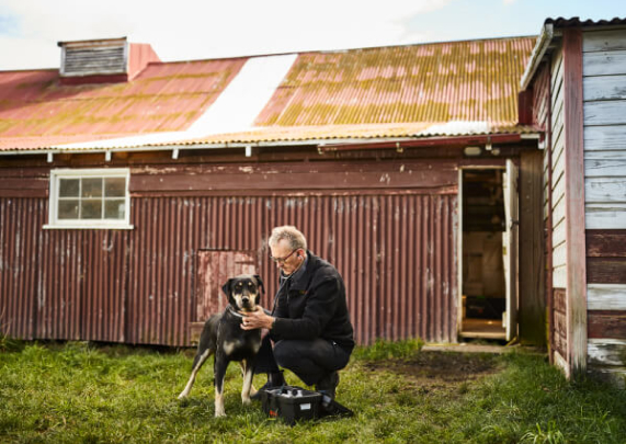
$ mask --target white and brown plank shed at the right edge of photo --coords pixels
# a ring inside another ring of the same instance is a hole
[[[550,360],[626,378],[626,20],[547,20],[522,78],[542,128]]]

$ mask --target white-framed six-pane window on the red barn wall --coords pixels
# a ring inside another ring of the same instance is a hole
[[[127,169],[50,171],[49,225],[44,228],[130,229]]]

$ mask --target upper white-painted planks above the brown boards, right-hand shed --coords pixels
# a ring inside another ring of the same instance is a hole
[[[626,29],[583,34],[587,229],[626,229]]]

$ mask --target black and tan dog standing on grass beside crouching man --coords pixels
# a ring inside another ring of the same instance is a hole
[[[213,315],[205,322],[200,335],[197,353],[193,360],[192,373],[179,399],[186,398],[191,391],[197,372],[205,361],[214,355],[215,375],[215,417],[225,417],[224,376],[231,361],[238,361],[243,373],[241,401],[250,405],[250,396],[257,390],[252,386],[257,353],[261,348],[261,329],[242,330],[242,315],[239,311],[252,311],[259,304],[263,281],[258,274],[242,274],[231,277],[221,287],[228,296],[228,306],[221,314]]]

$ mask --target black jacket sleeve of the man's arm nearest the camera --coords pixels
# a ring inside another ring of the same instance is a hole
[[[303,316],[297,319],[277,318],[272,338],[312,340],[323,337],[323,330],[333,317],[339,300],[340,285],[335,276],[325,276],[308,288]]]

